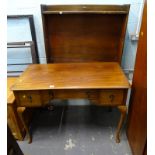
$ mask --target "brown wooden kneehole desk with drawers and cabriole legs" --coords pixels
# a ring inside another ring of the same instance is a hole
[[[79,98],[100,106],[116,106],[121,113],[116,132],[116,142],[120,142],[129,87],[118,63],[91,62],[30,65],[12,90],[18,107],[43,107],[53,99]]]

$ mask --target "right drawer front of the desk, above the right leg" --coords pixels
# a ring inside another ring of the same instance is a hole
[[[101,90],[100,101],[101,105],[121,105],[123,104],[124,90]]]

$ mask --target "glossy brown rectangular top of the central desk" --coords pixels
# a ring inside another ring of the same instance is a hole
[[[32,64],[12,90],[115,89],[130,84],[115,62]]]

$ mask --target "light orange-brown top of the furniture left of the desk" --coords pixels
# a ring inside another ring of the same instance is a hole
[[[11,91],[11,86],[15,83],[18,77],[8,77],[7,78],[7,104],[12,104],[15,100],[13,92]]]

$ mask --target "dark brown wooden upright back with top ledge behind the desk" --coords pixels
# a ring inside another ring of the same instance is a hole
[[[46,58],[121,63],[130,5],[41,5]]]

